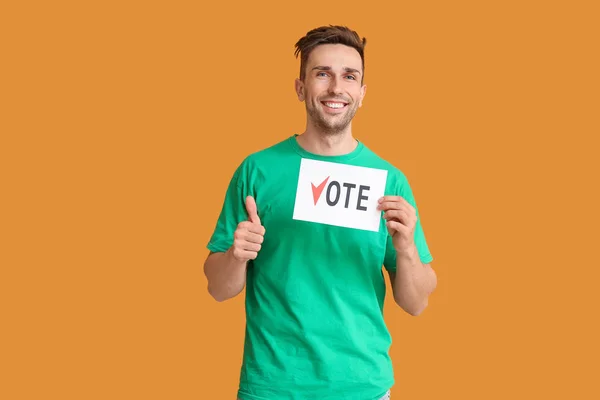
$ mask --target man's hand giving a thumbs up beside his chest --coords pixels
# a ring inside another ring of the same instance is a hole
[[[233,257],[242,262],[254,260],[258,256],[265,234],[252,196],[246,197],[246,211],[248,220],[238,224],[233,234],[232,246]]]

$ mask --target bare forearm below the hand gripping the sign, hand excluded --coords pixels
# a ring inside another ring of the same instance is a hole
[[[415,246],[396,252],[394,299],[411,315],[419,315],[427,307],[429,295],[437,285],[435,272],[423,264]]]

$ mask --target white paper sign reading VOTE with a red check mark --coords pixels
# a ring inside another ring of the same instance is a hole
[[[293,218],[377,232],[386,180],[384,169],[303,158]]]

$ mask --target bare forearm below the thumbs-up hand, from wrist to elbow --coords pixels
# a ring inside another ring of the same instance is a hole
[[[236,260],[231,251],[213,253],[204,263],[208,292],[217,301],[237,296],[246,285],[246,262]]]

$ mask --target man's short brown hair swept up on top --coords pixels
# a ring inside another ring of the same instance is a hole
[[[294,55],[296,58],[298,58],[298,53],[301,55],[300,79],[304,80],[306,75],[305,66],[310,52],[321,44],[344,44],[356,49],[362,60],[363,73],[361,81],[364,80],[365,45],[367,44],[367,39],[364,37],[361,39],[358,33],[355,31],[346,26],[339,25],[321,26],[319,28],[312,29],[306,34],[306,36],[298,40],[295,45],[296,50]]]

